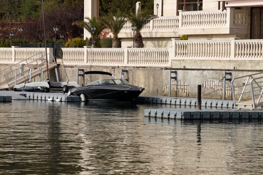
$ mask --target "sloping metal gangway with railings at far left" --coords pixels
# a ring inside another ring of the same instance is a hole
[[[35,58],[37,57],[37,58]],[[9,66],[6,69],[0,71],[0,90],[1,89],[12,89],[15,84],[20,84],[26,81],[30,81],[31,78],[40,75],[41,80],[43,72],[55,68],[56,62],[53,58],[46,65],[45,55],[41,52],[28,57],[16,64]]]

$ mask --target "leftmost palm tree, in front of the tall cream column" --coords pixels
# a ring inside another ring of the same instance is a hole
[[[104,25],[96,17],[93,17],[92,19],[85,17],[85,19],[87,19],[88,22],[84,22],[83,26],[92,35],[91,47],[95,47],[99,40],[99,34],[104,29]]]

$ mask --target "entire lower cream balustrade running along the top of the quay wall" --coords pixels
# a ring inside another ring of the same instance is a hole
[[[47,48],[52,53],[52,48]],[[170,48],[62,48],[65,65],[153,66],[170,67],[176,59],[259,60],[263,40],[175,40]],[[0,48],[0,63],[32,61],[44,48]],[[48,60],[52,59],[49,56]],[[52,55],[52,54],[51,54]]]

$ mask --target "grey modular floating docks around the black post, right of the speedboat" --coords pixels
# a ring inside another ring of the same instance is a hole
[[[179,120],[252,120],[263,119],[263,110],[248,105],[234,105],[232,100],[201,99],[197,109],[196,98],[139,96],[138,102],[167,104],[170,108],[147,108],[144,116]],[[187,106],[187,107],[186,107]]]

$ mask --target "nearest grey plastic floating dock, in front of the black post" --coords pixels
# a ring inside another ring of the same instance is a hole
[[[150,108],[144,109],[144,116],[179,120],[261,120],[260,110],[224,109],[187,109],[187,108]]]

